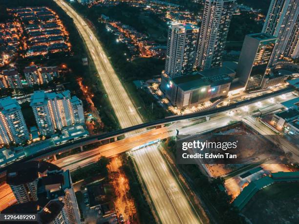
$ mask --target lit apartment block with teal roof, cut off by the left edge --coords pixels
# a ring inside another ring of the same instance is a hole
[[[29,132],[15,99],[0,99],[0,144],[24,143],[29,140]]]

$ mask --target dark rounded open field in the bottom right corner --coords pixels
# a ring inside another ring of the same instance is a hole
[[[277,183],[264,188],[242,213],[254,224],[298,224],[299,183]]]

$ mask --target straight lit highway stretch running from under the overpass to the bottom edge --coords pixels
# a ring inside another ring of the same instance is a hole
[[[163,224],[199,224],[199,216],[192,209],[187,195],[178,185],[157,144],[132,151],[150,198]]]

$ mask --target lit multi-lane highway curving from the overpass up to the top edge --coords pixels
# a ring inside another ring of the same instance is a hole
[[[96,35],[88,27],[85,20],[64,0],[54,0],[66,13],[73,19],[90,56],[95,64],[98,72],[98,77],[103,83],[108,99],[113,107],[118,122],[122,128],[130,127],[142,123],[142,119],[135,109],[128,93],[120,82],[114,69],[108,60],[105,51]],[[137,133],[140,130],[136,131]]]

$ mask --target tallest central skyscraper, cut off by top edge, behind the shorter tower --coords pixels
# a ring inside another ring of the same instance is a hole
[[[195,65],[200,70],[221,66],[235,0],[206,0]]]

